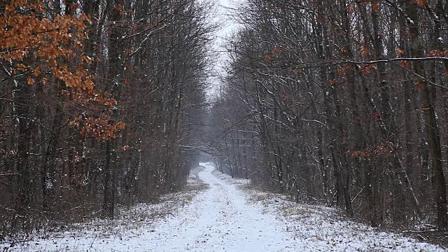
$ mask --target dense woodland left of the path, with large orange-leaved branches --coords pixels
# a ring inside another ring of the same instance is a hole
[[[205,115],[207,1],[0,1],[0,240],[180,190]]]

